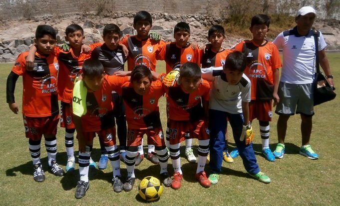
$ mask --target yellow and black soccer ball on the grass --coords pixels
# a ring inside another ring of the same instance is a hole
[[[140,182],[138,193],[146,201],[155,201],[161,197],[163,186],[157,178],[148,176]]]

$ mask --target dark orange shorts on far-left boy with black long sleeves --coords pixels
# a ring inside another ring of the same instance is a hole
[[[43,134],[56,135],[59,122],[59,113],[56,112],[51,116],[29,117],[23,116],[23,125],[25,127],[25,136],[33,141],[41,140]]]

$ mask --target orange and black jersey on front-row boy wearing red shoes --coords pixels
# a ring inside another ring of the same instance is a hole
[[[204,119],[201,98],[209,101],[210,85],[203,80],[198,89],[189,94],[175,83],[172,87],[164,87],[167,98],[168,119],[175,121],[197,121]]]

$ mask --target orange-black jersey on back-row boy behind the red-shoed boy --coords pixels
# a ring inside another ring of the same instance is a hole
[[[200,50],[198,47],[193,49],[191,44],[181,48],[176,45],[176,42],[171,42],[163,45],[159,53],[159,60],[165,61],[168,74],[186,62],[193,62],[200,66]]]

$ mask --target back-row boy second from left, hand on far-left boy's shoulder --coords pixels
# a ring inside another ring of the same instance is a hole
[[[72,120],[72,90],[74,80],[81,74],[84,60],[90,58],[94,48],[101,46],[102,43],[94,43],[89,46],[83,45],[84,31],[81,26],[71,24],[65,29],[65,40],[69,42],[69,49],[64,50],[61,47],[54,47],[54,54],[58,59],[58,99],[61,101],[60,106],[60,127],[65,128],[65,147],[67,154],[66,172],[74,170],[75,158],[73,150],[73,134],[75,126]],[[82,52],[82,48],[86,52]],[[32,62],[32,54],[35,52],[32,46],[27,56],[27,61]],[[96,163],[90,158],[91,167],[95,168]]]

